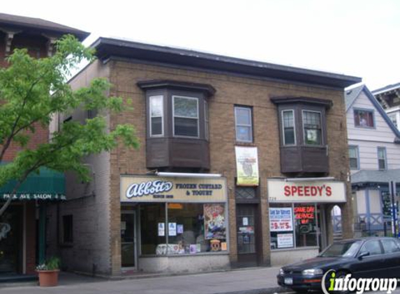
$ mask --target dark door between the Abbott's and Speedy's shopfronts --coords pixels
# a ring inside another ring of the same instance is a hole
[[[239,266],[257,265],[256,212],[256,205],[237,205],[237,261]]]

